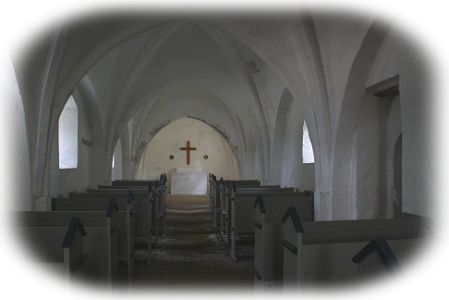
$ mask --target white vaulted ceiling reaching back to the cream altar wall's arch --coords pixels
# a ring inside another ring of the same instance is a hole
[[[137,159],[155,128],[186,116],[222,128],[234,149],[245,149],[249,133],[261,155],[268,156],[268,136],[285,90],[278,74],[248,45],[193,20],[124,39],[85,80],[94,87],[106,141],[116,139],[133,118]],[[243,164],[245,151],[235,154]]]

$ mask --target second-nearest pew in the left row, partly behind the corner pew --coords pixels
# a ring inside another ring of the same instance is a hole
[[[84,227],[84,294],[100,294],[109,300],[118,299],[117,231],[120,223],[115,201],[109,202],[104,227]],[[0,257],[6,261],[29,259],[53,260],[48,253],[58,253],[64,227],[0,227]],[[9,245],[8,245],[9,244]],[[14,246],[11,246],[14,245]],[[48,251],[42,251],[48,247]],[[53,255],[53,254],[52,254]],[[55,259],[58,259],[57,257]]]

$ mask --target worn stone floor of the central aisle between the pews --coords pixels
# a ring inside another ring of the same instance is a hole
[[[167,226],[151,265],[146,264],[144,239],[136,241],[134,300],[253,299],[254,236],[239,237],[239,260],[233,261],[224,237],[212,224],[208,196],[168,195]],[[125,265],[119,272],[126,278]],[[126,297],[124,281],[121,299]],[[266,299],[282,299],[281,294],[282,287],[269,286]]]

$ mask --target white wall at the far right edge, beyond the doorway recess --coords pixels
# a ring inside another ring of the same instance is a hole
[[[428,236],[449,235],[448,15],[447,1],[410,1],[369,82],[400,75],[403,211],[424,216]]]

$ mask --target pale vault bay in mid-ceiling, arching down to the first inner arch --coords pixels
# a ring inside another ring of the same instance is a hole
[[[197,86],[235,113],[239,123],[251,133],[260,160],[265,164],[264,171],[268,171],[269,124],[264,109],[278,105],[278,91],[285,86],[280,79],[272,80],[271,89],[276,92],[268,97],[270,103],[264,103],[267,97],[259,97],[258,90],[266,91],[260,85],[267,80],[255,80],[255,77],[271,74],[271,78],[277,78],[276,73],[245,45],[235,40],[231,45],[232,37],[195,22],[169,26],[158,39],[154,34],[147,34],[110,51],[88,73],[98,94],[102,125],[109,131],[107,155],[112,157],[113,146],[127,121],[143,105],[148,109],[148,101],[151,103],[151,99],[173,87]],[[136,47],[139,44],[144,47]],[[277,85],[275,89],[274,85]],[[220,111],[211,107],[210,114],[220,114]]]

